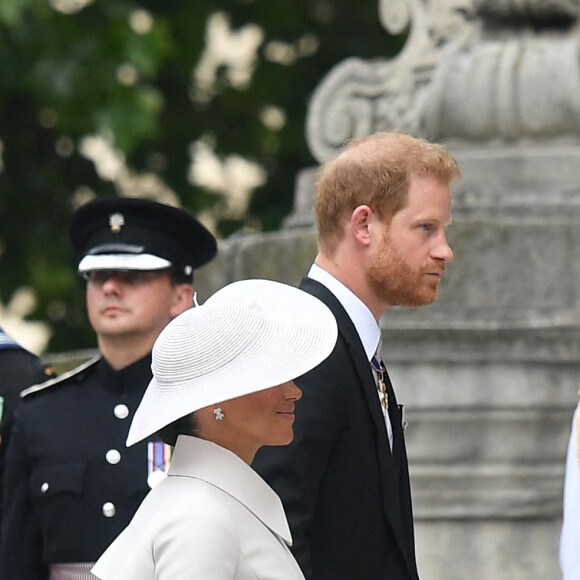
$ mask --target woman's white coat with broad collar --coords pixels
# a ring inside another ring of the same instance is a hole
[[[242,459],[180,435],[168,477],[97,561],[102,580],[303,580],[275,492]]]

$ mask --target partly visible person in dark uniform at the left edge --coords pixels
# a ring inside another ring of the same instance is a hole
[[[54,376],[56,373],[51,366],[22,347],[0,327],[0,522],[4,457],[10,440],[14,407],[24,389]]]

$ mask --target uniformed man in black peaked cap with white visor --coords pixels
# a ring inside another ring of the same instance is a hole
[[[170,448],[125,447],[151,379],[158,334],[193,300],[193,270],[216,254],[188,212],[97,198],[70,223],[100,356],[23,393],[6,457],[0,578],[83,580],[125,528]]]

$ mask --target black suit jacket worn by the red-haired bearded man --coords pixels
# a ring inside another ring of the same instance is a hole
[[[307,580],[417,580],[407,454],[390,387],[393,451],[357,331],[336,297],[304,278],[339,329],[320,366],[296,380],[294,441],[262,447],[253,467],[282,498]]]

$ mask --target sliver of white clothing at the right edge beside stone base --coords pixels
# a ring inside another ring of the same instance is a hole
[[[580,580],[580,403],[572,418],[566,455],[560,567],[562,580]]]

